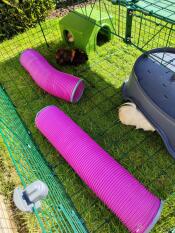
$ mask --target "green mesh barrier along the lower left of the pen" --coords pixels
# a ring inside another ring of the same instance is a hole
[[[87,232],[63,185],[34,145],[29,131],[2,87],[0,96],[0,136],[8,149],[23,188],[38,179],[49,187],[49,195],[43,201],[42,211],[34,209],[42,232]]]

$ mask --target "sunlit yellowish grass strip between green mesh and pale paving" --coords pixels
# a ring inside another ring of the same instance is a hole
[[[39,224],[33,214],[24,214],[19,211],[13,203],[13,191],[21,182],[16,173],[15,167],[9,156],[8,150],[0,136],[0,194],[5,197],[5,201],[12,210],[19,233],[38,233]]]

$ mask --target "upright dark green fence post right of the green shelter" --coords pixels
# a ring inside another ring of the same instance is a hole
[[[131,43],[132,18],[133,18],[133,9],[131,7],[128,7],[126,11],[126,31],[125,31],[125,42],[128,44]]]

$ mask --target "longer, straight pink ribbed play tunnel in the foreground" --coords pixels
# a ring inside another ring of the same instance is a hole
[[[42,109],[35,123],[81,179],[130,232],[149,232],[162,202],[55,106]]]

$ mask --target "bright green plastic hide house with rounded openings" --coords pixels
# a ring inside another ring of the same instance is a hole
[[[96,50],[97,45],[110,41],[111,31],[114,31],[112,16],[108,12],[91,7],[70,12],[59,24],[64,43],[87,53]],[[67,41],[68,32],[73,35],[74,42]]]

